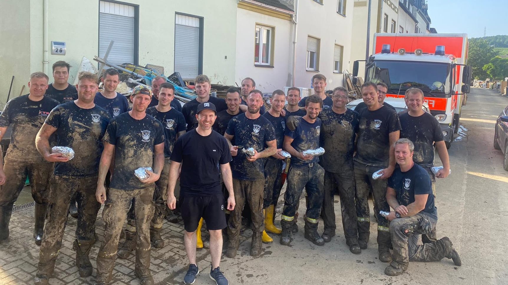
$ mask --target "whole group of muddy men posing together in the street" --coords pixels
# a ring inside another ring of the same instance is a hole
[[[263,242],[273,241],[267,232],[290,245],[304,189],[304,237],[313,244],[335,236],[338,194],[347,246],[353,254],[367,248],[372,193],[378,258],[390,263],[386,274],[403,273],[409,261],[449,258],[461,265],[450,239],[436,237],[434,183],[448,176],[450,163],[439,123],[422,109],[420,89],[405,92],[407,110],[397,114],[384,102],[387,85],[367,82],[363,103],[353,111],[346,108],[347,90],[336,87],[327,95],[325,76],[316,74],[314,95],[300,98],[296,87],[287,94],[275,90],[266,111],[251,78],[223,99],[210,96],[210,80],[199,75],[197,98],[182,106],[174,86],[155,77],[151,88],[134,87],[130,104],[115,91],[116,69],[105,70],[100,80],[82,72],[72,86],[69,67],[64,61],[53,64],[52,84],[44,73],[31,74],[29,94],[11,99],[0,115],[0,139],[12,128],[0,168],[0,242],[8,242],[13,204],[28,177],[40,245],[35,284],[48,284],[52,276],[69,213],[77,218],[73,249],[79,275],[92,274],[89,253],[101,204],[105,226],[96,284],[110,283],[116,257],[132,251],[135,275],[141,284],[153,284],[150,248],[164,246],[161,229],[165,218],[177,221],[175,213],[183,220],[189,260],[184,283],[194,283],[200,271],[196,248],[203,247],[204,220],[209,276],[217,285],[228,284],[219,268],[223,232],[229,258],[237,255],[245,221],[252,229],[250,255],[259,256]],[[74,157],[53,146],[71,148]],[[312,152],[320,147],[324,154]],[[437,173],[431,171],[435,150],[443,165]],[[140,167],[151,168],[139,175]],[[279,229],[274,210],[285,181]],[[125,242],[118,247],[125,220]]]

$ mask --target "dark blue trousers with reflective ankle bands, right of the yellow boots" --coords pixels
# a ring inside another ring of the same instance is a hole
[[[308,222],[317,223],[323,206],[324,176],[325,170],[317,163],[290,167],[280,222],[282,229],[292,229],[296,224],[295,215],[304,188],[307,193],[305,217]]]

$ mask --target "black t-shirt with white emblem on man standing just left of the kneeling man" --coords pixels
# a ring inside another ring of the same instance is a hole
[[[355,160],[363,164],[387,167],[390,162],[389,134],[400,130],[397,113],[383,105],[375,111],[361,109],[360,130]]]

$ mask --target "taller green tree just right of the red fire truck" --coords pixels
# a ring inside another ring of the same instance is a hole
[[[483,39],[471,39],[469,41],[467,64],[473,69],[473,78],[485,80],[488,74],[483,67],[489,64],[490,60],[496,55],[497,52],[494,51],[494,48],[487,41]]]

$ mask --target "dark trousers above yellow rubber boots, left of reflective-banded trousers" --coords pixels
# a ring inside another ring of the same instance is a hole
[[[263,209],[276,205],[282,190],[283,160],[268,157],[265,163],[265,193]]]

